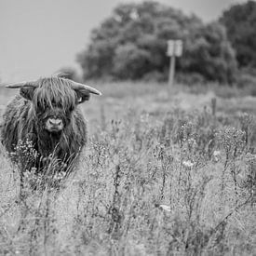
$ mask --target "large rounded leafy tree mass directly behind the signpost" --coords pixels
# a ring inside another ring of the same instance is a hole
[[[78,55],[78,62],[84,78],[165,76],[168,39],[184,41],[186,50],[178,60],[178,71],[199,73],[209,80],[232,80],[236,60],[222,25],[205,26],[194,15],[185,16],[152,1],[116,7],[113,15],[92,31],[91,42]]]

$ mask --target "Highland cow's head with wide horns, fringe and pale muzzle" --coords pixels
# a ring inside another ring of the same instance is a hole
[[[38,127],[50,133],[61,133],[70,123],[76,105],[88,101],[90,93],[101,95],[95,88],[58,76],[15,83],[7,88],[20,88],[20,95],[33,103]]]

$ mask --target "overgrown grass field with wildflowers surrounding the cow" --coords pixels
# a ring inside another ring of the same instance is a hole
[[[60,191],[28,173],[20,198],[1,148],[0,255],[255,255],[256,98],[88,85],[103,96],[82,106],[88,147]],[[16,92],[0,88],[1,110]]]

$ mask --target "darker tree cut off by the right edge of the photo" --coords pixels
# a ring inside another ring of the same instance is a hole
[[[236,49],[240,67],[256,67],[256,2],[235,5],[222,14],[222,24]]]

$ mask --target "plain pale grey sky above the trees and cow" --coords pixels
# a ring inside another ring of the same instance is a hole
[[[120,3],[141,0],[0,0],[0,79],[18,82],[58,72],[79,71],[76,56],[90,31]],[[246,0],[158,0],[204,21]]]

